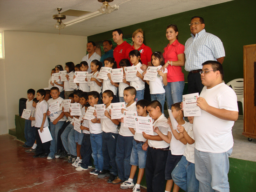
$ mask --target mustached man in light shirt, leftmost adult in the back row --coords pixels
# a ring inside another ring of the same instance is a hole
[[[93,41],[89,41],[87,43],[87,52],[88,54],[83,57],[82,61],[86,61],[88,63],[88,72],[91,73],[91,62],[93,60],[101,60],[101,56],[95,53],[96,45]]]

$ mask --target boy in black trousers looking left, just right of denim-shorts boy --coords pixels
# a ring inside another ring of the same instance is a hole
[[[149,116],[154,120],[153,127],[157,126],[157,122],[167,122],[166,117],[162,113],[162,105],[159,101],[151,101],[147,106]],[[165,126],[157,126],[163,135],[168,135],[171,138],[171,133]],[[154,135],[142,133],[145,139],[148,139],[148,154],[146,160],[146,182],[148,192],[163,192],[165,186],[164,170],[169,151],[169,141],[161,139],[159,134],[154,132]],[[147,146],[147,142],[145,144]]]

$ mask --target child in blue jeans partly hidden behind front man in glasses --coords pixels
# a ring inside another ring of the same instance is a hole
[[[194,117],[188,117],[188,120],[193,125]],[[180,132],[179,134],[184,136],[188,144],[185,147],[182,159],[172,172],[173,181],[185,192],[198,192],[199,181],[195,178],[193,126],[189,126],[188,132],[181,125],[178,125],[177,130]]]

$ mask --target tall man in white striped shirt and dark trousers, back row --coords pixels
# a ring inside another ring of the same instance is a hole
[[[206,33],[202,17],[194,16],[189,24],[191,36],[185,44],[185,70],[189,72],[189,93],[201,93],[202,81],[200,71],[202,63],[207,60],[217,60],[222,64],[225,51],[222,41],[211,33]]]

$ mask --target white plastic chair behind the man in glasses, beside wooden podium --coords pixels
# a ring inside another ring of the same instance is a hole
[[[229,81],[227,83],[227,86],[231,86],[231,88],[236,93],[237,101],[240,101],[242,103],[242,106],[243,106],[243,78],[234,79],[232,81]]]

